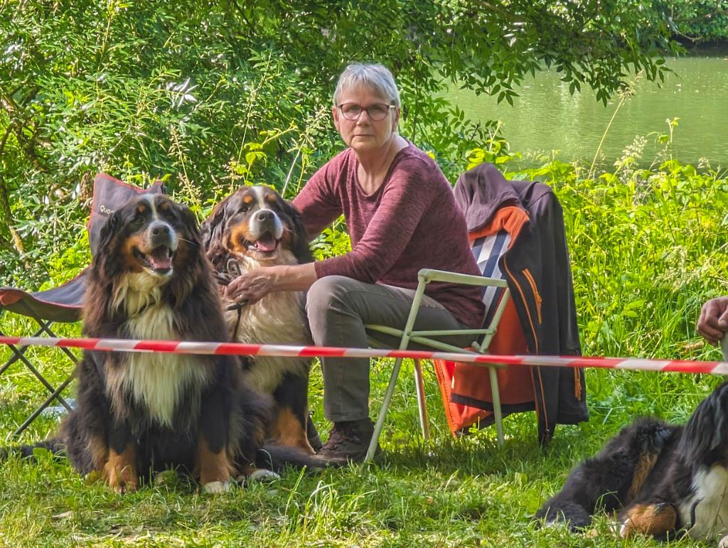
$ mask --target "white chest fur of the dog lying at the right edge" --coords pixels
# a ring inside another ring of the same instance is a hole
[[[689,536],[711,539],[728,533],[728,469],[716,464],[707,471],[700,470],[692,486],[695,494],[680,505],[680,517],[686,524],[692,523],[695,507],[695,523],[688,530]]]

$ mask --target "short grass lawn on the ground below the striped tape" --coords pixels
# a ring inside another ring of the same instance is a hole
[[[37,349],[52,378],[55,350]],[[716,351],[717,352],[717,351]],[[716,357],[712,355],[712,357]],[[373,372],[373,408],[379,407],[390,362]],[[422,443],[416,422],[411,368],[395,394],[380,465],[319,474],[288,470],[274,483],[234,488],[222,496],[200,493],[185,477],[116,495],[103,483],[79,477],[63,459],[36,464],[15,458],[0,464],[0,544],[5,546],[655,546],[622,541],[606,516],[587,535],[561,528],[538,530],[531,516],[563,483],[579,458],[593,453],[631,417],[655,413],[684,421],[719,378],[679,374],[587,371],[591,420],[560,426],[546,450],[537,444],[533,413],[505,419],[507,441],[494,429],[454,440],[446,426],[432,372],[427,394],[433,439]],[[42,393],[23,368],[0,378],[1,431],[9,432]],[[323,432],[321,381],[314,371],[312,402]],[[25,442],[51,432],[53,418],[36,421]],[[710,546],[689,539],[673,546]]]

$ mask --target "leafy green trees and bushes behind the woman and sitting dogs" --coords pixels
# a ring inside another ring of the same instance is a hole
[[[386,63],[401,132],[446,174],[494,128],[442,97],[512,102],[550,65],[604,100],[628,71],[662,79],[668,20],[636,0],[548,2],[0,1],[0,276],[38,287],[80,269],[90,182],[162,178],[197,214],[246,181],[290,197],[341,148],[336,76]]]

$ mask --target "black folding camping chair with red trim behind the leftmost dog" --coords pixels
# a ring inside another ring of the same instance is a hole
[[[145,192],[159,194],[164,192],[164,186],[161,181],[156,181],[145,189],[129,185],[103,173],[96,175],[91,215],[87,223],[92,255],[95,255],[98,250],[101,227],[106,223],[108,216],[114,213],[114,210],[129,202],[132,197]],[[81,274],[65,284],[44,291],[28,292],[17,287],[0,287],[0,316],[8,311],[30,317],[39,326],[31,333],[33,337],[55,337],[56,335],[51,328],[54,323],[78,322],[81,319],[81,309],[86,291],[86,275],[87,269],[84,269]],[[2,333],[2,330],[0,330],[0,335],[6,335],[6,333]],[[11,365],[20,361],[50,392],[50,396],[25,419],[23,424],[17,427],[14,432],[15,435],[23,432],[54,400],[67,410],[71,410],[71,405],[61,395],[68,384],[71,384],[73,370],[78,363],[78,358],[70,350],[60,349],[68,357],[68,360],[71,360],[71,365],[74,367],[71,368],[71,373],[69,373],[65,381],[58,386],[52,386],[39,368],[33,365],[33,362],[26,355],[28,346],[9,345],[9,349],[12,354],[3,365],[0,365],[0,376]]]

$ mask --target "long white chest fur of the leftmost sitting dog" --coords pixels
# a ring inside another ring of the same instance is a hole
[[[175,313],[155,293],[159,293],[156,288],[143,297],[131,289],[126,292],[124,303],[131,313],[126,324],[127,333],[131,338],[178,340]],[[126,354],[121,368],[109,375],[109,392],[131,394],[135,402],[149,411],[151,418],[172,427],[183,390],[190,384],[206,384],[207,368],[203,360],[192,355],[157,352]],[[199,394],[191,395],[193,401],[189,403],[199,405]]]

